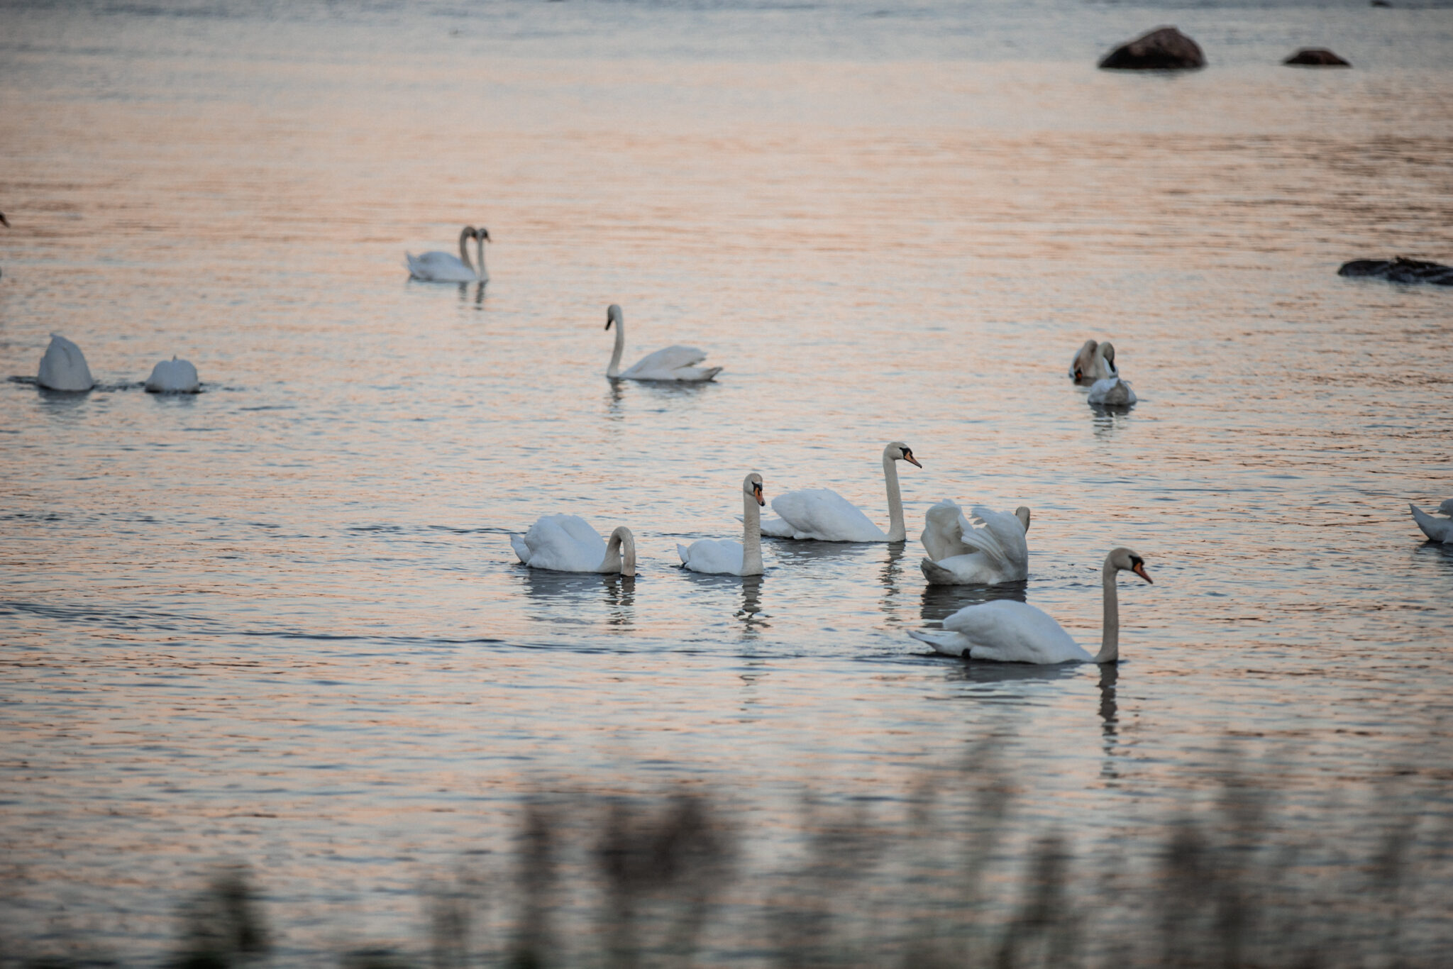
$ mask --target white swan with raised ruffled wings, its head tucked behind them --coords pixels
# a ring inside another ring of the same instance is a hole
[[[976,504],[972,514],[979,527],[955,501],[928,508],[920,536],[928,558],[918,564],[928,584],[992,585],[1029,578],[1029,508],[1019,506],[1007,514]]]

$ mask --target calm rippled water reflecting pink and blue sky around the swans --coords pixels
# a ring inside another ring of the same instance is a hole
[[[1159,23],[1212,65],[1094,70]],[[1453,9],[6,3],[0,211],[16,952],[154,959],[241,859],[305,962],[407,936],[535,790],[731,790],[772,831],[982,744],[1091,843],[1226,750],[1453,814],[1453,551],[1407,513],[1453,495],[1453,293],[1335,276],[1453,257]],[[464,222],[490,285],[407,282]],[[612,388],[610,302],[628,362],[718,382]],[[96,391],[26,382],[51,331]],[[1065,379],[1087,337],[1130,413]],[[203,394],[139,389],[173,353]],[[886,524],[894,439],[905,548],[676,568],[747,471]],[[985,596],[918,572],[944,497],[1033,508],[995,594],[1084,642],[1104,552],[1146,558],[1114,677],[923,655]],[[629,524],[641,575],[516,565],[558,511]]]

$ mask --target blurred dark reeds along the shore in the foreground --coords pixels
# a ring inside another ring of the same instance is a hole
[[[805,796],[796,811],[700,792],[542,795],[509,861],[421,888],[418,940],[344,944],[325,962],[1440,966],[1453,815],[1436,783],[1308,802],[1228,769],[1171,816],[1078,835],[1035,830],[982,757],[926,771],[905,799]],[[182,907],[164,965],[318,965],[275,944],[262,898],[244,869],[215,873]],[[99,963],[0,949],[0,965]]]

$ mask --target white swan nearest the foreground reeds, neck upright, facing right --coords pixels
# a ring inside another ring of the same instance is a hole
[[[1145,559],[1128,548],[1112,549],[1104,556],[1104,632],[1100,652],[1090,655],[1084,646],[1049,613],[1013,599],[995,599],[966,606],[943,620],[943,632],[911,631],[908,635],[930,644],[939,652],[966,660],[995,662],[1116,662],[1120,658],[1120,601],[1114,591],[1116,572],[1130,571],[1151,581]]]

